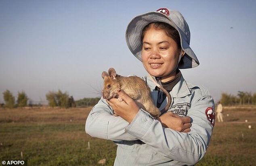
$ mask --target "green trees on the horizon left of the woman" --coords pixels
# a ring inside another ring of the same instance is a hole
[[[10,90],[4,91],[3,97],[5,103],[0,103],[0,107],[17,108],[42,106],[42,104],[33,104],[24,91],[18,92],[17,100],[15,100],[15,96],[13,96]],[[83,98],[75,101],[73,96],[69,96],[67,92],[62,92],[61,90],[57,92],[49,91],[46,93],[45,97],[49,107],[61,108],[94,106],[100,100],[100,98]]]

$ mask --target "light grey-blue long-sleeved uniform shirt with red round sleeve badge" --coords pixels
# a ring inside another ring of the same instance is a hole
[[[149,77],[143,79],[151,88],[156,104],[155,84]],[[214,101],[206,88],[186,82],[183,76],[170,94],[172,104],[168,111],[191,117],[189,133],[162,127],[143,109],[129,124],[113,116],[113,110],[103,98],[88,115],[86,133],[118,145],[114,166],[193,165],[203,158],[210,142],[215,119]],[[166,100],[159,110],[166,106]]]

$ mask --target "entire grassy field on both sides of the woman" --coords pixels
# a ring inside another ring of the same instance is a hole
[[[113,165],[116,145],[84,131],[90,109],[0,109],[0,160],[21,159],[22,152],[29,166],[97,166],[103,158]],[[225,122],[215,123],[206,156],[196,165],[255,165],[256,107],[224,111]]]

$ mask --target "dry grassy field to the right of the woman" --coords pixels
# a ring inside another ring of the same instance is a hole
[[[255,165],[256,107],[224,107],[223,111],[224,122],[216,119],[206,156],[197,166]]]

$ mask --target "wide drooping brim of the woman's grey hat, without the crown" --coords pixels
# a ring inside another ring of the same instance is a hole
[[[194,68],[199,65],[199,61],[195,53],[190,48],[189,43],[186,41],[187,37],[185,33],[175,25],[174,21],[172,21],[170,17],[160,12],[148,12],[138,15],[134,17],[128,24],[126,29],[126,43],[132,54],[137,59],[142,61],[142,31],[149,23],[154,22],[168,23],[178,31],[180,35],[181,47],[183,51],[185,51],[185,55],[180,59],[180,63],[178,64],[179,69]]]

